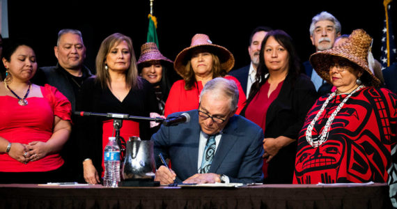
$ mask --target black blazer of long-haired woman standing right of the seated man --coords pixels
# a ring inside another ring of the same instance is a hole
[[[297,78],[288,74],[276,100],[270,104],[266,114],[265,138],[279,136],[297,139],[306,114],[318,98],[313,83],[306,75]],[[240,115],[245,116],[247,101]],[[297,141],[281,148],[269,162],[265,183],[293,183]]]

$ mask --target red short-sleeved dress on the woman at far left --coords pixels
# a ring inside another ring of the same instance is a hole
[[[18,99],[0,96],[0,137],[11,143],[29,144],[32,141],[48,141],[52,136],[54,116],[70,121],[69,100],[55,87],[40,86],[42,98],[26,98],[26,106],[20,106]],[[42,172],[58,169],[63,165],[59,153],[49,154],[42,159],[23,164],[0,154],[1,172]]]

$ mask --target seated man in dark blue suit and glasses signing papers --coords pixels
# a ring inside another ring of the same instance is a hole
[[[169,183],[262,183],[263,130],[235,115],[238,87],[221,77],[205,84],[191,120],[153,135],[155,180]],[[171,114],[177,117],[182,113]],[[164,167],[159,153],[171,160]]]

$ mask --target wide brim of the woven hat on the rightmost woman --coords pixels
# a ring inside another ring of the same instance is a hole
[[[329,84],[332,84],[332,80],[329,77],[329,68],[331,67],[332,58],[334,56],[339,56],[347,59],[352,63],[355,63],[362,70],[368,72],[368,74],[371,75],[371,79],[373,79],[374,84],[380,84],[380,80],[377,79],[377,77],[373,75],[373,72],[371,72],[371,70],[368,68],[368,63],[365,63],[360,59],[357,59],[356,56],[353,56],[353,54],[349,54],[345,52],[345,50],[343,50],[343,48],[340,47],[334,47],[332,49],[327,49],[322,52],[316,52],[312,54],[309,58],[309,61],[313,69],[316,70],[317,74],[322,79],[329,82]]]

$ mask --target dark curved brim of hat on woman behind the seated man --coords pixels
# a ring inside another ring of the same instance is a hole
[[[187,61],[192,57],[193,49],[203,48],[208,49],[209,52],[217,55],[219,58],[219,62],[221,63],[221,68],[229,72],[235,63],[235,59],[233,54],[226,49],[225,47],[219,45],[194,45],[193,47],[187,47],[180,52],[173,63],[173,68],[178,72],[181,77],[185,77],[185,67],[187,65]]]

